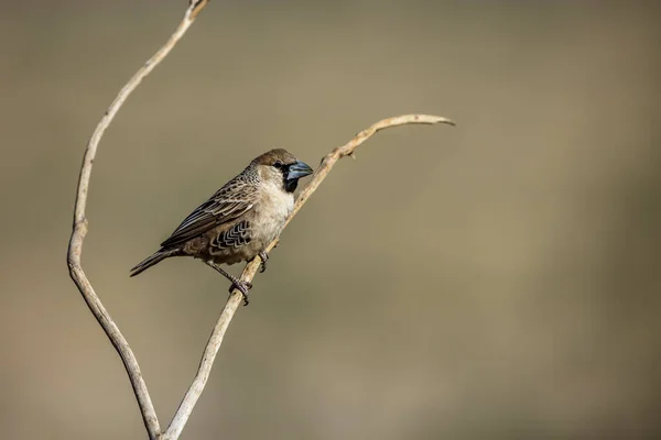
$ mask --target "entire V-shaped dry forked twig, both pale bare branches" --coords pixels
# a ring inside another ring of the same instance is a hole
[[[142,414],[142,419],[144,421],[144,426],[149,432],[149,437],[151,440],[175,440],[180,437],[188,417],[191,416],[197,399],[199,398],[206,382],[208,380],[209,373],[212,371],[212,366],[214,364],[214,360],[216,354],[218,353],[218,349],[223,343],[223,338],[231,321],[234,315],[236,314],[239,305],[241,304],[242,295],[240,292],[235,290],[230,295],[227,304],[214,330],[209,337],[207,345],[204,350],[204,354],[202,356],[202,361],[199,363],[199,367],[197,370],[197,374],[191,384],[191,387],[186,392],[184,398],[182,399],[170,426],[165,430],[165,432],[161,432],[161,428],[159,425],[159,419],[156,417],[156,413],[154,410],[153,404],[149,396],[149,392],[144,380],[142,378],[142,374],[140,372],[140,366],[138,365],[138,361],[136,355],[131,351],[129,343],[124,339],[124,337],[119,331],[119,328],[101,304],[101,300],[94,292],[91,284],[87,279],[85,272],[80,265],[80,254],[83,251],[83,241],[85,240],[85,235],[87,233],[87,220],[85,218],[85,207],[87,204],[87,193],[89,188],[89,178],[91,175],[91,166],[94,163],[94,158],[96,155],[97,146],[104,135],[104,132],[115,118],[115,114],[129,97],[129,95],[138,87],[138,85],[147,77],[153,68],[165,58],[165,56],[170,53],[170,51],[174,47],[174,45],[181,40],[181,37],[185,34],[186,30],[193,24],[197,13],[208,3],[208,0],[192,0],[184,19],[182,20],[177,30],[172,34],[167,43],[163,45],[152,56],[145,64],[142,66],[140,70],[127,82],[127,85],[121,89],[115,101],[110,105],[106,114],[98,123],[96,130],[94,131],[91,139],[89,140],[87,147],[85,148],[85,155],[83,157],[83,165],[80,167],[80,176],[78,179],[78,189],[76,195],[76,204],[74,208],[74,227],[72,237],[68,245],[67,253],[67,263],[69,267],[69,275],[78,290],[83,295],[83,298],[87,302],[91,314],[97,319],[108,339],[119,353],[127,373],[129,375],[129,380],[131,381],[131,385],[133,387],[133,392],[136,394],[136,398],[138,399],[138,405],[140,407],[140,413]],[[351,139],[348,143],[343,146],[339,146],[333,150],[329,154],[327,154],[322,161],[321,166],[314,173],[312,180],[310,184],[301,191],[299,198],[296,199],[296,204],[294,206],[294,210],[290,218],[286,221],[286,224],[291,221],[291,219],[299,212],[299,210],[303,207],[305,201],[310,198],[310,196],[316,190],[319,184],[326,178],[330,169],[335,166],[338,160],[345,157],[347,155],[351,155],[354,151],[365,141],[367,141],[370,136],[382,129],[387,129],[390,127],[398,127],[404,124],[436,124],[436,123],[446,123],[454,125],[454,122],[435,116],[429,114],[404,114],[400,117],[384,119],[382,121],[377,122],[370,128],[358,133],[354,139]],[[286,226],[285,224],[285,226]],[[267,249],[267,252],[271,251],[275,244],[278,243],[278,239],[275,239]],[[259,268],[259,261],[256,258],[253,262],[248,263],[243,268],[241,274],[241,279],[245,282],[250,282],[257,274]]]

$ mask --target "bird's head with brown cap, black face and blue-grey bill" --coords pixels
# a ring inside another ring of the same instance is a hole
[[[271,150],[258,156],[252,163],[264,182],[282,185],[288,193],[296,190],[299,179],[313,173],[304,162],[283,148]]]

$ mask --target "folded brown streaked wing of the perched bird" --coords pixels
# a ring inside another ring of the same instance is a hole
[[[252,209],[256,201],[257,187],[235,178],[191,212],[161,246],[170,248],[184,243],[217,226],[236,220]]]

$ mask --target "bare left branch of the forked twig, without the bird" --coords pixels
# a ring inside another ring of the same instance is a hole
[[[202,11],[207,3],[208,0],[191,0],[184,18],[176,31],[172,34],[170,40],[167,40],[167,42],[151,58],[149,58],[147,63],[144,63],[144,65],[140,68],[140,70],[138,70],[138,73],[136,73],[136,75],[133,75],[129,82],[126,84],[96,127],[91,138],[89,139],[89,142],[87,143],[87,147],[85,148],[85,155],[83,156],[83,165],[80,167],[80,175],[78,177],[78,188],[76,191],[76,204],[74,208],[74,224],[72,237],[68,243],[67,264],[69,268],[69,275],[83,295],[85,302],[87,302],[89,310],[108,336],[108,339],[123,362],[124,369],[129,375],[129,380],[131,381],[131,386],[133,387],[133,393],[138,399],[138,406],[140,407],[140,413],[142,414],[144,427],[147,428],[149,438],[151,440],[161,438],[161,428],[159,426],[159,418],[156,417],[156,411],[154,410],[154,406],[149,396],[147,385],[142,378],[142,374],[140,373],[138,360],[136,359],[136,355],[129,346],[126,338],[121,334],[119,328],[101,304],[101,300],[94,292],[94,288],[91,287],[91,284],[89,283],[89,279],[87,279],[87,275],[85,275],[85,271],[83,271],[83,266],[80,265],[83,241],[87,234],[85,207],[87,205],[87,193],[89,189],[91,166],[96,156],[97,146],[104,135],[104,132],[108,125],[110,125],[115,114],[117,114],[117,111],[127,100],[129,95],[131,95],[131,92],[140,85],[142,79],[144,79],[154,69],[154,67],[156,67],[167,56],[170,51],[172,51],[174,45],[184,36],[188,28],[195,21],[195,18],[199,11]]]

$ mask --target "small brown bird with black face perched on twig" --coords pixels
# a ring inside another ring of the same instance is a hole
[[[280,234],[294,208],[299,179],[312,173],[310,165],[284,148],[257,156],[191,212],[156,252],[131,268],[130,276],[172,256],[192,256],[229,279],[229,292],[237,288],[247,306],[252,284],[228,274],[220,265],[259,256],[260,272],[267,270],[266,249]]]

